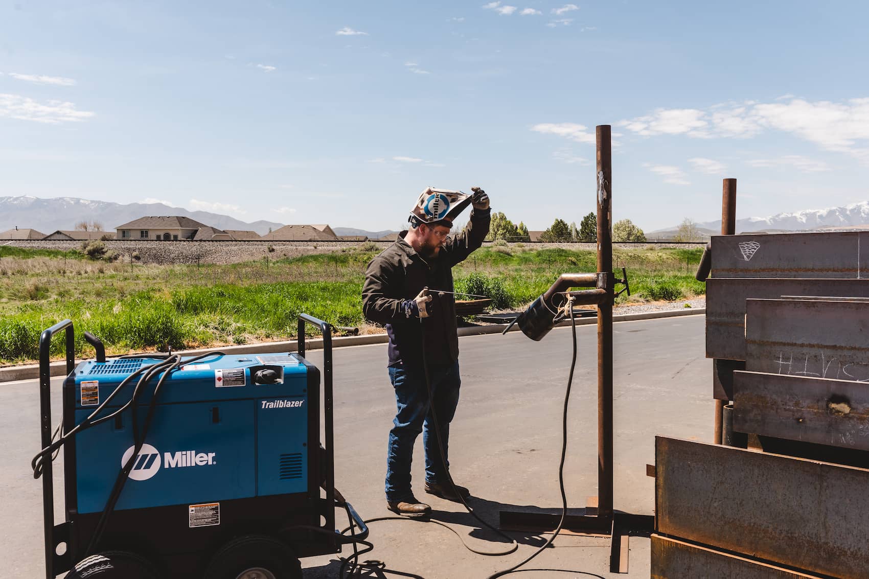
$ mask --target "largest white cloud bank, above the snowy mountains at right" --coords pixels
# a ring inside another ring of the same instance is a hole
[[[821,149],[846,153],[869,163],[869,97],[845,102],[725,103],[697,109],[659,109],[618,123],[642,136],[748,138],[764,130],[798,136]]]

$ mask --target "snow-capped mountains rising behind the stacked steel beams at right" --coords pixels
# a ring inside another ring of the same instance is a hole
[[[698,223],[700,227],[721,230],[721,222]],[[822,210],[804,210],[794,213],[779,213],[768,217],[746,217],[736,220],[737,233],[762,230],[819,230],[833,227],[859,227],[869,229],[869,201],[852,203],[845,207],[829,207]]]

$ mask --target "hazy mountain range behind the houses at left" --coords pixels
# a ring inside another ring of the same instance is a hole
[[[143,216],[187,216],[220,230],[253,230],[260,235],[276,230],[283,223],[255,221],[246,223],[234,217],[189,211],[165,203],[112,203],[78,197],[43,199],[31,196],[0,197],[0,231],[33,229],[43,233],[75,229],[81,221],[97,221],[106,231]]]

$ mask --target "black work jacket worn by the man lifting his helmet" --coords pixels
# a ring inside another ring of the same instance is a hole
[[[468,225],[449,236],[438,255],[424,259],[404,241],[383,250],[365,272],[362,287],[362,313],[371,322],[386,326],[389,335],[389,366],[421,365],[423,332],[428,364],[448,364],[459,358],[453,294],[438,294],[438,289],[453,291],[453,266],[479,248],[488,234],[490,210],[473,210]],[[422,288],[432,294],[431,315],[408,317],[401,303],[415,298]]]

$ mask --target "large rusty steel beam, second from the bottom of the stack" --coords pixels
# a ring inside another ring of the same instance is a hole
[[[866,577],[869,469],[663,436],[655,469],[656,532],[807,573]]]

